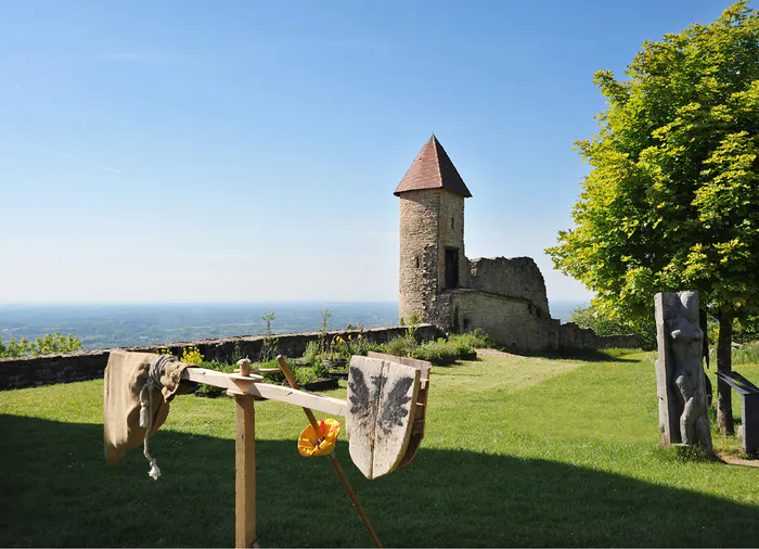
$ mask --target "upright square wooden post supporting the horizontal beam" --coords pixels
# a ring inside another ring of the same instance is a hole
[[[254,398],[235,396],[237,434],[234,441],[234,546],[256,541],[256,416]]]

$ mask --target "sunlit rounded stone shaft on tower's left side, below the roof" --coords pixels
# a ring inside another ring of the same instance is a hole
[[[439,196],[439,191],[421,190],[400,197],[398,309],[406,320],[419,315],[428,322],[425,304],[437,294]]]

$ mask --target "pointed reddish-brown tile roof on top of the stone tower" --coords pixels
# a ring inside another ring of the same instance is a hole
[[[419,152],[393,194],[400,196],[402,192],[420,189],[447,189],[464,197],[472,196],[435,133]]]

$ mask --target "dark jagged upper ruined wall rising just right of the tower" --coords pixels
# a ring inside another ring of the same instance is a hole
[[[531,257],[472,259],[467,288],[528,301],[539,318],[551,318],[545,281]]]

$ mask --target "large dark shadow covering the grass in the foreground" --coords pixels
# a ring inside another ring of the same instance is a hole
[[[231,419],[232,420],[232,419]],[[233,421],[233,420],[232,420]],[[162,431],[115,467],[102,427],[0,416],[0,546],[232,547],[234,443]],[[260,434],[259,434],[260,436]],[[326,460],[257,442],[262,546],[368,546]],[[543,460],[422,449],[374,482],[338,456],[387,546],[756,546],[757,507]]]

